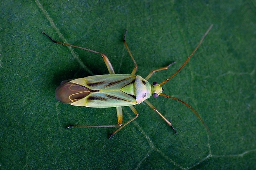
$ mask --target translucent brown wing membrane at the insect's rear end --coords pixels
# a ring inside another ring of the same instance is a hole
[[[55,90],[55,98],[62,103],[73,103],[88,96],[95,90],[90,90],[87,87],[77,85],[75,83],[66,82],[59,85]]]

